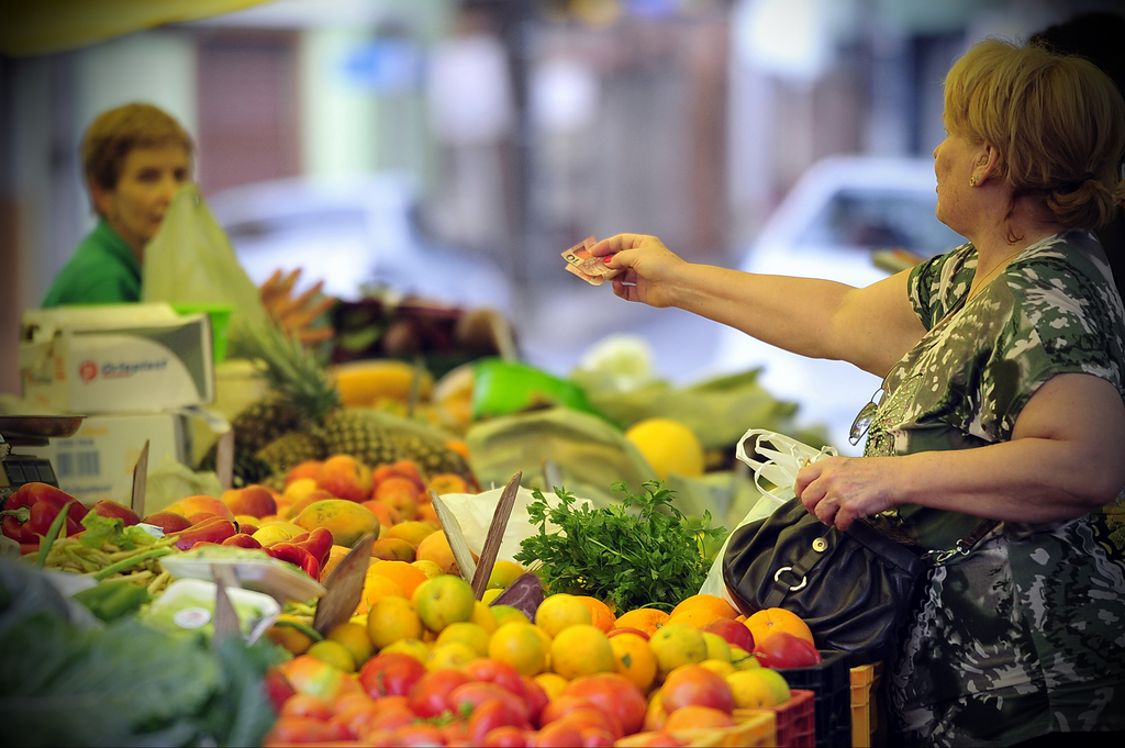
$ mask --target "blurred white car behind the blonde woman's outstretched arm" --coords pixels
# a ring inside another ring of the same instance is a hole
[[[929,159],[826,159],[801,177],[738,269],[873,283],[890,272],[875,259],[891,250],[929,258],[964,242],[935,217],[936,186]],[[862,453],[863,442],[848,443],[848,432],[879,389],[878,377],[842,361],[794,355],[732,328],[720,334],[713,363],[718,372],[763,367],[763,386],[795,402],[800,421],[826,425],[842,454]]]

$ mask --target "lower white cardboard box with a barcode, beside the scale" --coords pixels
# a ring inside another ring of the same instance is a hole
[[[150,470],[169,454],[178,462],[188,462],[189,418],[184,413],[90,416],[73,436],[52,439],[46,447],[19,447],[16,451],[51,460],[58,487],[87,506],[104,498],[128,505],[133,496],[133,468],[145,440]]]

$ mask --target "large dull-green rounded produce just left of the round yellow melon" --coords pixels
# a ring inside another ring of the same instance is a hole
[[[504,486],[518,471],[523,485],[551,492],[546,460],[559,470],[558,483],[594,506],[616,504],[611,486],[623,480],[633,492],[656,475],[637,447],[602,418],[554,407],[483,421],[465,436],[469,463],[485,488]],[[551,492],[554,493],[554,492]]]

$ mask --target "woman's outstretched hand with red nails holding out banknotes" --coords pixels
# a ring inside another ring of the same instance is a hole
[[[623,270],[613,279],[613,292],[627,301],[655,307],[673,305],[670,286],[687,264],[673,254],[660,240],[644,234],[618,234],[590,249],[604,256],[605,264]]]

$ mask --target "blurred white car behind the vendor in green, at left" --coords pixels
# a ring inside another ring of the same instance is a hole
[[[400,173],[294,178],[207,197],[246,273],[261,283],[303,268],[300,288],[356,300],[386,286],[450,306],[511,310],[511,286],[487,258],[430,243],[415,219],[417,191]]]

